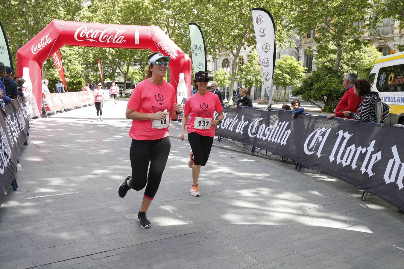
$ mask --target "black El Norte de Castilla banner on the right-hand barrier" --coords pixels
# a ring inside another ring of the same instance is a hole
[[[223,114],[216,136],[290,158],[404,209],[404,128],[244,107]]]

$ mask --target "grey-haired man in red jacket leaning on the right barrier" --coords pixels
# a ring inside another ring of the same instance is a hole
[[[339,118],[348,118],[344,115],[342,111],[352,111],[354,113],[358,113],[358,107],[360,102],[362,102],[362,97],[358,97],[353,91],[353,83],[358,80],[358,77],[355,73],[346,73],[342,79],[342,84],[345,88],[345,94],[342,96],[341,100],[339,100],[337,107],[335,108],[335,114],[331,114],[327,117],[327,119],[331,119],[333,117]]]

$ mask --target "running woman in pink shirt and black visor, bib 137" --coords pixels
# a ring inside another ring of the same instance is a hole
[[[187,130],[191,151],[189,152],[188,166],[192,168],[193,183],[190,190],[192,196],[200,196],[198,178],[201,166],[205,166],[208,161],[215,136],[215,127],[224,117],[219,96],[208,91],[208,82],[208,73],[198,71],[194,79],[194,85],[198,92],[189,97],[184,106],[180,139],[181,141],[184,140],[185,124],[189,115]],[[214,111],[219,114],[217,120],[213,120]]]

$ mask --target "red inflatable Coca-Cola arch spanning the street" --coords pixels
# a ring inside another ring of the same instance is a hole
[[[179,73],[185,74],[187,92],[177,92],[177,97],[188,97],[191,94],[191,59],[160,27],[53,20],[17,51],[17,72],[23,74],[29,70],[38,109],[41,108],[42,100],[42,63],[64,45],[138,48],[162,52],[171,58],[170,84],[175,89]]]

